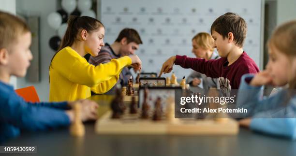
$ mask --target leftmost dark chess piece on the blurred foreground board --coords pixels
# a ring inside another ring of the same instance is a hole
[[[112,100],[111,102],[111,110],[112,110],[112,118],[113,119],[118,119],[121,117],[125,110],[125,105],[123,103],[123,97],[122,94],[120,93],[119,88],[116,88],[116,97]]]

